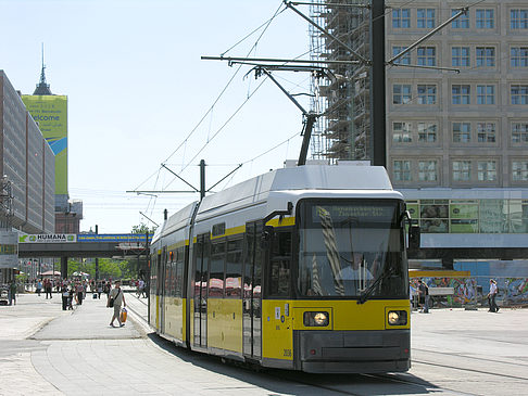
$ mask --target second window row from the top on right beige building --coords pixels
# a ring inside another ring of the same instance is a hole
[[[392,56],[406,50],[405,46],[392,46]],[[494,46],[452,46],[451,47],[451,65],[454,67],[495,67],[498,50]],[[437,66],[437,47],[418,47],[416,54],[413,51],[407,52],[394,63],[420,66]],[[510,66],[513,68],[528,67],[528,47],[512,46],[510,47]]]

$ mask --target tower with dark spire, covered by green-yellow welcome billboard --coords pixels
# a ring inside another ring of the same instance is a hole
[[[55,155],[55,232],[78,233],[83,205],[70,202],[67,188],[67,97],[51,92],[45,69],[42,61],[39,84],[33,94],[24,94],[22,100]],[[77,208],[80,213],[75,212]]]

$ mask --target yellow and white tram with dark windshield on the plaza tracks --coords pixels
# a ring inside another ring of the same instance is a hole
[[[149,322],[250,365],[406,371],[407,218],[377,166],[282,168],[205,196],[152,239]]]

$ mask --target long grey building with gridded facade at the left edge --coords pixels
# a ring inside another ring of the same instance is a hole
[[[54,231],[55,158],[5,73],[0,71],[0,234]],[[2,242],[0,282],[11,279]],[[15,255],[17,252],[14,252]]]

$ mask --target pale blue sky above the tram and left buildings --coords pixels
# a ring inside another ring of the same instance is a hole
[[[208,189],[243,164],[219,191],[297,159],[302,115],[289,99],[251,66],[200,59],[309,59],[307,23],[291,10],[273,17],[284,9],[281,0],[0,0],[0,69],[33,94],[43,43],[47,82],[68,98],[68,191],[84,204],[81,231],[151,227],[165,208],[199,199],[126,192],[190,190],[161,164],[199,188],[205,159]],[[310,92],[305,73],[274,76],[291,93]]]

